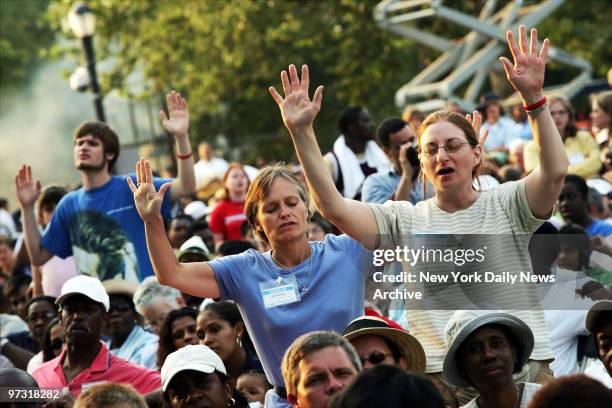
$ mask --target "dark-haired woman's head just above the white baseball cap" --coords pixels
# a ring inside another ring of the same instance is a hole
[[[161,369],[168,354],[188,344],[198,344],[196,319],[198,311],[191,307],[172,310],[166,315],[159,330],[157,367]]]

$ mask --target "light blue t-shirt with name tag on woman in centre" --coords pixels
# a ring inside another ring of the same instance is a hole
[[[369,252],[346,235],[329,234],[310,247],[312,255],[288,270],[275,264],[271,251],[253,249],[210,262],[221,300],[238,305],[268,381],[277,386],[284,386],[281,362],[296,338],[316,330],[342,333],[351,320],[364,315]],[[299,288],[307,287],[301,300],[266,309],[259,283],[290,274]]]

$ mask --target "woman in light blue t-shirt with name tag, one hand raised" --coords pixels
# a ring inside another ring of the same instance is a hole
[[[309,242],[306,189],[286,168],[267,166],[251,182],[244,211],[272,250],[179,263],[159,213],[168,184],[155,191],[151,166],[144,159],[136,165],[136,176],[138,185],[131,179],[128,184],[159,282],[194,296],[234,300],[268,381],[275,385],[266,395],[266,406],[289,407],[280,370],[283,354],[302,334],[341,332],[363,315],[366,251],[346,235]]]

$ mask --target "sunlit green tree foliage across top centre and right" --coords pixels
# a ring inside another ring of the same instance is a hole
[[[59,22],[72,1],[51,4]],[[269,85],[280,86],[280,70],[308,63],[311,82],[324,84],[316,125],[323,150],[338,134],[342,108],[363,105],[376,120],[398,112],[395,91],[436,56],[409,40],[381,30],[373,18],[376,0],[334,1],[144,1],[92,0],[96,52],[113,61],[103,88],[126,90],[140,72],[145,94],[178,89],[192,112],[192,137],[228,137],[249,146],[247,159],[291,157],[292,148]],[[507,1],[500,1],[499,7]],[[534,2],[531,2],[534,3]],[[605,1],[566,2],[542,24],[555,44],[591,60],[598,74],[610,61],[610,7]],[[445,3],[447,4],[447,3]],[[450,2],[448,2],[450,4]],[[453,2],[477,15],[484,1]],[[580,16],[578,19],[576,16]],[[461,28],[441,19],[418,22],[449,36]],[[314,88],[313,88],[314,89]]]

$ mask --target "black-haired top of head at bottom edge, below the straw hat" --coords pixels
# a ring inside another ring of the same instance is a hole
[[[361,372],[334,396],[329,406],[444,408],[444,400],[428,378],[397,366],[380,364]]]

